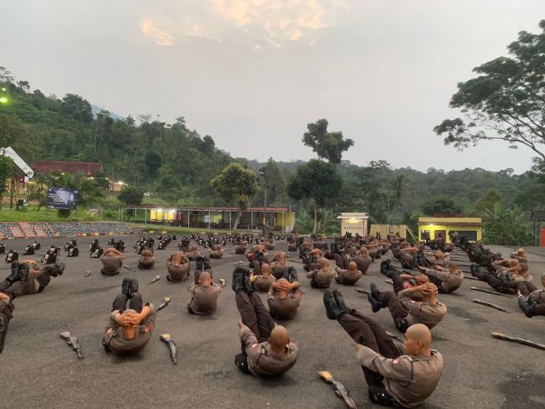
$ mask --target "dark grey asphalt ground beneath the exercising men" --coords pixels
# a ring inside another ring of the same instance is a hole
[[[127,244],[124,264],[136,269],[138,255],[132,244],[137,236],[123,238]],[[196,316],[186,310],[187,287],[191,283],[173,284],[165,279],[164,264],[177,242],[166,250],[155,251],[153,270],[133,272],[123,268],[117,276],[103,276],[100,260],[90,259],[85,251],[92,239],[77,239],[79,257],[67,258],[63,252],[60,261],[66,264],[64,275],[53,278],[43,293],[15,300],[5,351],[0,354],[0,407],[342,408],[341,399],[318,377],[318,371],[324,369],[350,390],[358,407],[375,407],[367,398],[352,339],[338,323],[326,318],[322,291],[311,288],[302,264],[295,263],[304,292],[299,313],[293,321],[281,323],[289,329],[292,340],[300,344],[299,360],[282,377],[260,380],[240,373],[233,364],[240,342],[231,275],[234,263],[246,263],[243,255],[224,254],[222,259],[212,260],[214,279],[224,278],[227,285],[216,314]],[[49,244],[62,246],[66,241],[42,240],[42,250],[37,254],[44,254]],[[105,247],[106,238],[100,237],[99,241]],[[6,245],[23,253],[28,243],[13,240]],[[285,248],[285,242],[276,246],[276,250]],[[232,249],[227,246],[225,250]],[[503,254],[510,250],[500,249]],[[35,260],[39,260],[38,255]],[[382,259],[389,256],[390,252]],[[292,257],[297,260],[295,253]],[[357,287],[369,289],[369,284],[375,282],[381,290],[391,289],[379,273],[380,261],[371,265]],[[545,252],[530,251],[529,264],[534,284],[538,284],[540,274],[545,272]],[[0,265],[0,276],[7,275],[8,269],[8,264]],[[88,277],[86,270],[92,272]],[[161,280],[146,284],[155,274],[160,274]],[[173,300],[157,313],[152,341],[144,351],[121,358],[105,354],[101,341],[124,277],[139,279],[144,301],[159,304],[164,296]],[[545,407],[545,351],[490,336],[500,332],[545,344],[545,317],[526,318],[516,297],[477,293],[471,291],[473,285],[487,287],[465,280],[456,293],[440,297],[449,312],[433,329],[433,348],[443,354],[445,367],[440,384],[422,407]],[[365,296],[354,287],[333,283],[333,288],[342,290],[346,304],[401,335],[388,311],[372,314]],[[473,304],[473,298],[499,304],[510,313]],[[83,360],[78,360],[59,337],[65,330],[78,337]],[[165,333],[171,334],[178,345],[176,365],[170,360],[168,347],[159,340],[159,334]]]

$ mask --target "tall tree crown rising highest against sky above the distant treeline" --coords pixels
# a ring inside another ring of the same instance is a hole
[[[354,145],[354,141],[344,139],[342,132],[327,132],[327,126],[327,119],[319,119],[315,123],[308,124],[308,132],[302,135],[302,143],[312,147],[318,157],[339,165],[342,153]]]

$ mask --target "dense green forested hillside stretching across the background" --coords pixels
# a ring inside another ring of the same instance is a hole
[[[124,119],[114,119],[106,111],[93,115],[82,96],[45,96],[25,81],[15,82],[5,68],[0,68],[0,84],[9,99],[0,105],[0,145],[12,146],[30,164],[34,160],[101,162],[102,176],[123,180],[172,205],[198,206],[234,205],[216,195],[211,180],[236,161],[259,175],[260,190],[250,205],[263,205],[266,185],[267,205],[292,204],[312,214],[312,200],[296,201],[289,195],[288,186],[302,161],[233,158],[215,145],[212,136],[188,128],[183,116],[167,124],[152,115]],[[514,175],[509,168],[420,172],[392,169],[387,157],[369,160],[366,166],[346,161],[336,165],[342,189],[321,205],[322,226],[336,228],[333,219],[343,211],[366,211],[373,223],[415,227],[423,214],[485,216],[485,211],[494,209],[517,209],[517,223],[527,224],[530,211],[545,203],[544,185],[530,172]],[[308,214],[302,213],[301,220],[308,220]]]

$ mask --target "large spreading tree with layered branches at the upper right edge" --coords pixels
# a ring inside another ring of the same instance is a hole
[[[433,128],[445,145],[463,149],[500,140],[511,148],[529,147],[545,161],[545,20],[538,35],[521,31],[508,46],[512,57],[498,57],[473,69],[479,76],[458,84],[452,108],[461,118]]]

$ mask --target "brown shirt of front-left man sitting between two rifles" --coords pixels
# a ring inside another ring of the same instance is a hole
[[[152,305],[152,311],[154,308]],[[121,311],[114,310],[110,314],[110,322],[104,331],[103,343],[107,345],[114,354],[136,354],[144,349],[144,346],[150,341],[152,331],[155,326],[155,313],[149,314],[138,326],[138,331],[134,339],[127,340],[123,337],[123,329],[114,320],[114,315]]]

